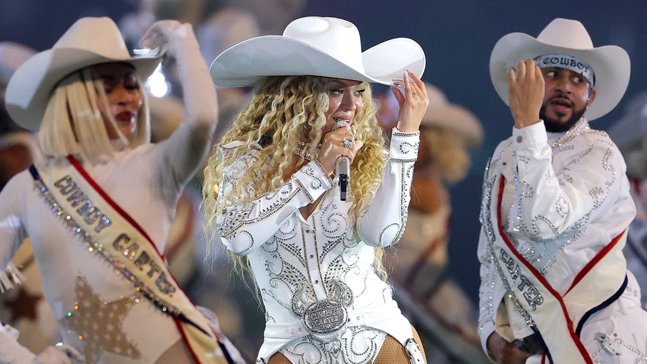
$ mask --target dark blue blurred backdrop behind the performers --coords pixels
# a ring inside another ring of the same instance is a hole
[[[49,48],[81,16],[118,20],[135,9],[127,0],[2,0],[0,40]],[[632,61],[631,82],[619,108],[596,120],[606,129],[622,116],[622,108],[647,85],[645,1],[388,1],[311,0],[303,15],[342,17],[355,23],[364,49],[395,37],[421,43],[427,56],[423,79],[439,86],[449,100],[471,109],[485,128],[485,142],[474,151],[468,178],[452,187],[450,266],[472,299],[479,283],[476,244],[483,166],[501,139],[511,133],[512,117],[490,83],[488,60],[504,34],[536,36],[554,17],[582,21],[594,45],[623,47]]]

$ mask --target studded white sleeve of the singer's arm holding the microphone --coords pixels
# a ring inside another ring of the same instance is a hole
[[[249,166],[238,159],[226,167],[219,196],[236,190],[238,179]],[[256,196],[253,188],[242,186],[237,198],[219,197],[217,204],[224,208],[215,219],[218,234],[234,254],[248,255],[269,240],[300,207],[316,201],[331,186],[330,177],[317,161],[302,166],[286,183],[264,196]]]

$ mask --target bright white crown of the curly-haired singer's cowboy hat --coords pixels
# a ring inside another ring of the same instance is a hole
[[[364,72],[360,32],[349,21],[336,17],[301,17],[285,27],[283,36],[301,41]]]

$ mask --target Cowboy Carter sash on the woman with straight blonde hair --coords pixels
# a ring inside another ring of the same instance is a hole
[[[29,168],[43,201],[61,223],[82,240],[85,249],[107,260],[135,291],[173,318],[195,363],[233,363],[208,320],[171,275],[146,231],[72,155],[67,161]]]

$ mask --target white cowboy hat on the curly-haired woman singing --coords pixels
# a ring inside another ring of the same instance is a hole
[[[282,36],[242,41],[217,56],[210,67],[214,83],[225,87],[256,84],[267,76],[323,76],[388,85],[408,69],[424,72],[424,52],[409,38],[384,41],[362,52],[360,34],[336,17],[301,17]]]

